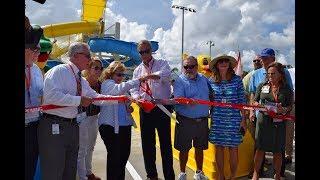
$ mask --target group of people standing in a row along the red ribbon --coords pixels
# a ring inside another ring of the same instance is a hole
[[[32,29],[32,27],[31,27]],[[39,33],[41,34],[41,33]],[[130,156],[131,127],[134,124],[131,101],[185,97],[223,103],[245,104],[245,88],[233,70],[237,61],[219,55],[209,62],[213,75],[198,72],[193,56],[183,60],[182,74],[171,80],[166,60],[152,56],[151,44],[142,40],[137,45],[142,63],[133,72],[132,80],[124,82],[126,67],[119,61],[107,68],[97,57],[91,57],[86,43],[70,45],[68,61],[45,73],[34,62],[39,55],[38,35],[26,38],[25,45],[25,107],[58,105],[61,108],[28,112],[25,115],[25,177],[33,179],[37,157],[44,180],[99,180],[92,172],[92,154],[97,132],[107,150],[106,177],[125,179],[125,165]],[[292,83],[287,71],[274,62],[272,49],[259,54],[263,68],[255,70],[249,82],[250,103],[273,105],[279,114],[289,114],[293,104]],[[172,88],[173,87],[173,88]],[[129,101],[96,101],[97,97],[130,97]],[[247,129],[244,110],[200,105],[164,105],[176,112],[174,148],[179,151],[178,179],[189,179],[185,173],[188,152],[195,148],[197,170],[194,179],[208,179],[202,171],[203,150],[208,142],[216,148],[217,179],[224,176],[224,149],[230,154],[231,179],[238,166],[238,146]],[[158,179],[156,168],[156,134],[158,132],[163,174],[174,180],[170,117],[156,106],[140,114],[141,142],[148,179]],[[209,119],[211,118],[210,126]],[[264,152],[274,153],[275,179],[280,179],[285,149],[286,122],[262,112],[250,112],[256,118],[256,153],[253,179],[259,178]],[[179,123],[178,123],[179,122]]]

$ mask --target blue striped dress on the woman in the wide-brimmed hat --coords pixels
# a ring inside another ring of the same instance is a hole
[[[246,103],[243,83],[235,75],[230,81],[215,83],[210,79],[214,91],[214,101],[227,103]],[[239,132],[241,122],[240,110],[214,107],[211,114],[209,142],[228,147],[237,147],[242,142]]]

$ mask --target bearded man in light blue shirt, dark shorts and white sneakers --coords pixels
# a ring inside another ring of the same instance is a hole
[[[173,84],[174,97],[209,100],[208,79],[198,73],[197,59],[189,56],[183,61],[182,74]],[[175,127],[174,148],[180,151],[179,180],[187,179],[185,167],[188,153],[195,148],[197,171],[194,179],[208,179],[202,172],[203,150],[208,149],[208,115],[207,105],[176,105],[175,111],[179,123]],[[188,178],[189,179],[189,178]]]

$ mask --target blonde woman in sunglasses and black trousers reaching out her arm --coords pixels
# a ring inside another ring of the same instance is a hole
[[[126,68],[121,62],[112,62],[100,77],[101,94],[126,95],[131,88],[139,87],[140,82],[154,78],[149,75],[122,82],[125,71]],[[106,179],[125,179],[125,166],[131,148],[132,111],[130,103],[101,106],[98,124],[101,138],[108,151]]]

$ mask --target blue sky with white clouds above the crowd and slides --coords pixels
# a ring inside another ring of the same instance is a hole
[[[47,0],[41,5],[26,0],[31,24],[79,21],[80,0]],[[295,66],[294,0],[108,0],[106,27],[120,22],[120,39],[159,42],[154,57],[166,59],[171,67],[181,63],[182,11],[180,5],[196,13],[184,14],[184,52],[212,56],[241,52],[243,69],[253,68],[252,59],[266,47],[276,50],[276,60]]]

